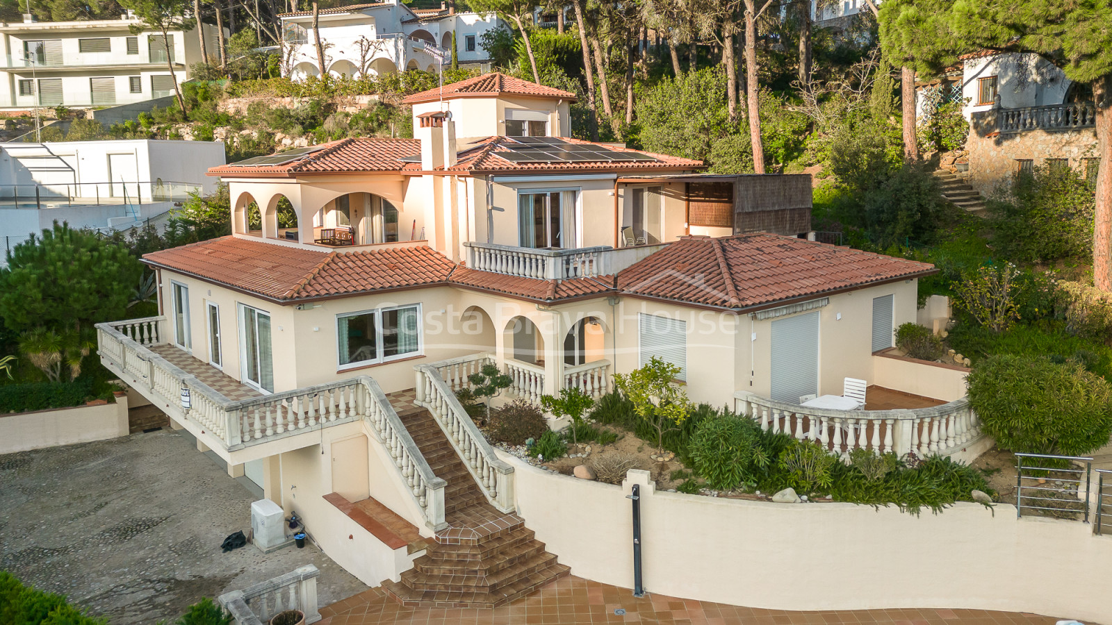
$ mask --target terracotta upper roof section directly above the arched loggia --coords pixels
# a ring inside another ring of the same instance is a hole
[[[281,165],[237,165],[235,162],[212,167],[209,176],[244,177],[292,177],[298,173],[364,173],[370,171],[400,171],[398,159],[420,153],[417,139],[388,139],[367,137],[340,139],[318,146],[319,150],[298,157]],[[277,152],[275,156],[281,156]]]

